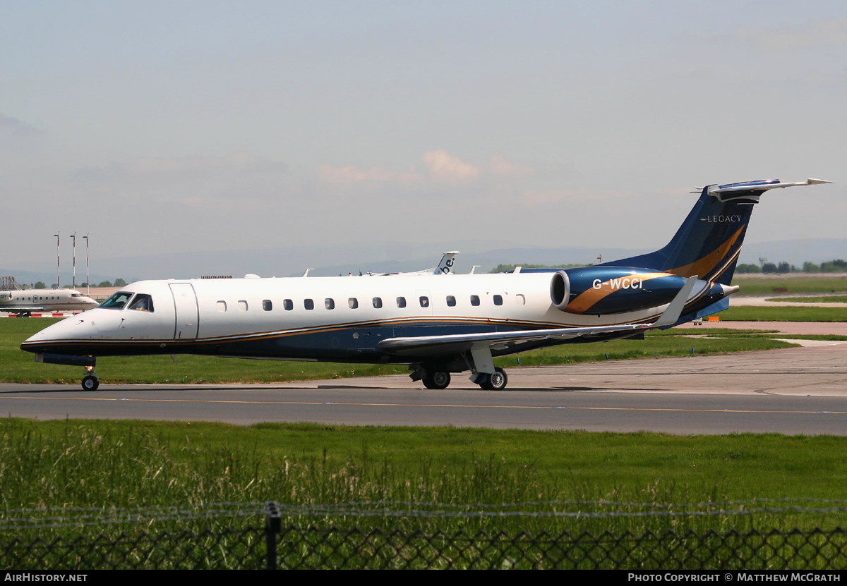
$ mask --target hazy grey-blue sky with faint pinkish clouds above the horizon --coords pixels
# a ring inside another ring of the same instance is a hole
[[[748,240],[844,238],[845,104],[840,0],[0,0],[3,264],[657,248],[695,185],[809,177]]]

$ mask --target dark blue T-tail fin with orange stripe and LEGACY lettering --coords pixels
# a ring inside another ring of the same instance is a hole
[[[706,185],[688,217],[667,246],[637,257],[623,258],[612,267],[643,267],[729,285],[738,263],[753,207],[762,191],[831,181],[810,179],[794,183],[779,180]]]

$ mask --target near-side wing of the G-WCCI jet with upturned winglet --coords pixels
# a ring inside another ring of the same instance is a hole
[[[458,351],[490,348],[502,350],[509,346],[538,340],[567,340],[579,336],[608,334],[610,332],[638,332],[669,326],[677,323],[685,303],[694,289],[697,276],[686,279],[673,301],[653,323],[623,323],[620,325],[597,326],[595,328],[529,329],[518,332],[481,332],[479,334],[427,335],[407,338],[389,338],[379,342],[379,350],[395,354],[427,354],[438,356]]]

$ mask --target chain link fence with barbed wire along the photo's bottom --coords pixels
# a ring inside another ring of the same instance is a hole
[[[566,516],[517,510],[474,511],[461,507],[405,503],[398,507],[279,506],[274,503],[216,505],[191,509],[89,509],[11,511],[0,522],[3,567],[17,571],[91,569],[618,569],[793,570],[847,569],[847,531],[842,528],[645,531],[442,530],[411,528],[417,517]],[[414,505],[410,507],[409,505]],[[537,506],[539,503],[532,503]],[[508,508],[508,507],[507,507]],[[679,507],[677,507],[679,508]],[[710,515],[726,510],[706,507]],[[747,514],[756,507],[742,507]],[[768,505],[770,511],[778,507]],[[810,512],[844,507],[818,507]],[[739,509],[739,510],[742,510]],[[779,510],[797,512],[796,506]],[[343,511],[343,512],[340,512]],[[331,512],[331,516],[328,516]],[[665,514],[666,511],[654,511]],[[686,511],[690,515],[696,511]],[[700,511],[702,512],[702,511]],[[622,513],[615,513],[620,516]],[[641,511],[635,513],[644,515]],[[319,519],[307,520],[307,517]],[[331,522],[344,517],[347,525]],[[382,527],[360,528],[379,517]],[[152,522],[199,530],[145,529]],[[292,520],[298,520],[292,522]],[[396,525],[392,528],[391,525]],[[111,526],[113,530],[104,530]]]

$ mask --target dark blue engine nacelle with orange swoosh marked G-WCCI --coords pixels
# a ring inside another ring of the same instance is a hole
[[[550,298],[562,312],[608,315],[673,301],[685,279],[632,267],[566,268],[553,275]]]

